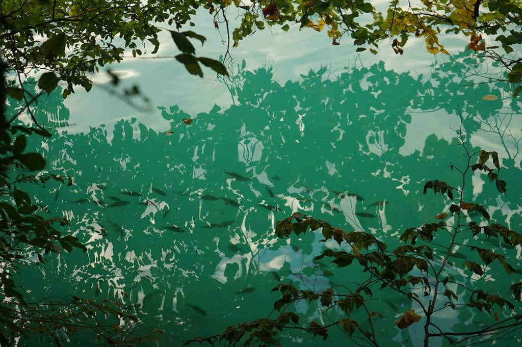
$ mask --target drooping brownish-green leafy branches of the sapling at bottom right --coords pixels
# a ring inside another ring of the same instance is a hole
[[[507,274],[519,272],[508,263],[504,254],[482,248],[475,242],[480,238],[494,238],[500,240],[504,247],[512,249],[522,244],[522,234],[501,224],[489,224],[487,208],[465,198],[469,189],[466,187],[466,178],[477,170],[488,173],[499,193],[506,193],[506,185],[498,176],[501,165],[497,152],[480,150],[470,153],[461,130],[459,136],[467,154],[467,162],[461,169],[454,164],[450,168],[460,174],[461,183],[450,186],[446,182],[434,180],[424,184],[424,195],[430,190],[435,194],[447,195],[447,207],[434,217],[441,221],[405,230],[399,236],[404,244],[390,250],[385,242],[371,233],[345,232],[324,220],[294,212],[292,216],[277,222],[276,235],[287,238],[295,234],[299,237],[309,229],[320,231],[324,237],[321,242],[334,240],[341,250],[336,251],[331,244],[325,244],[326,250],[314,260],[333,259],[331,263],[337,268],[357,267],[363,273],[357,277],[358,283],[334,285],[321,292],[301,290],[292,283],[280,283],[272,292],[280,292],[281,297],[274,302],[274,309],[267,318],[230,326],[222,334],[198,337],[187,341],[187,344],[196,341],[213,344],[219,340],[235,345],[246,338],[245,344],[248,345],[280,345],[276,338],[286,330],[303,330],[312,333],[314,337],[319,335],[326,339],[329,329],[339,326],[358,345],[388,345],[388,338],[379,334],[375,328],[376,324],[390,325],[393,322],[390,317],[379,313],[379,306],[373,301],[374,293],[386,295],[383,291],[398,293],[411,302],[412,309],[402,313],[395,320],[395,325],[405,329],[422,324],[423,345],[426,347],[435,338],[443,338],[450,345],[494,343],[496,339],[505,338],[516,331],[522,325],[519,304],[522,301],[522,282],[511,285],[512,297],[508,298],[499,293],[469,287],[448,274],[448,270],[458,267],[452,264],[450,257],[457,255],[455,249],[459,247],[467,248],[472,253],[470,257],[464,258],[460,266],[462,270],[469,271],[472,278],[488,276],[494,279],[500,269]],[[478,162],[472,164],[477,156]],[[490,162],[493,166],[490,166]],[[455,204],[452,192],[458,194]],[[472,243],[462,243],[469,237],[472,237]],[[500,267],[495,266],[495,262]],[[338,310],[341,317],[329,324],[315,320],[301,324],[298,312],[291,310],[294,304],[301,301],[319,302],[319,310]],[[464,308],[494,313],[494,321],[481,328],[471,326],[462,331],[446,330],[441,325],[438,315],[444,317],[444,311],[447,310],[453,310],[453,315],[458,315]],[[499,312],[502,312],[503,319],[499,318]],[[272,314],[275,314],[274,318]]]

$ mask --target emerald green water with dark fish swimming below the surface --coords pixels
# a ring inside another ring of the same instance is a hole
[[[399,73],[381,62],[334,76],[317,64],[299,78],[281,81],[269,66],[240,63],[233,85],[212,87],[216,95],[230,93],[233,104],[195,114],[165,99],[155,105],[162,122],[129,112],[106,125],[93,121],[90,128],[75,128],[73,123],[89,118],[75,119],[58,92],[52,93],[35,110],[42,125],[55,128],[55,136],[44,142],[32,138],[32,146],[44,155],[49,171],[73,176],[74,184],[26,189],[49,209],[42,212],[46,216],[67,217],[88,251],[50,255],[41,269],[23,268],[18,281],[26,300],[69,294],[101,300],[125,291],[124,304],[142,321],[134,333],[164,330],[159,341],[143,345],[180,346],[268,316],[279,298],[270,290],[280,281],[315,291],[353,286],[364,276],[358,268],[334,270],[326,261],[312,261],[325,247],[320,235],[278,239],[276,221],[299,211],[398,245],[402,231],[433,222],[446,207],[441,197],[422,194],[425,180],[459,184],[449,169],[450,163],[465,164],[452,130],[459,126],[458,109],[467,145],[499,151],[508,187],[501,196],[476,174],[466,199],[489,206],[492,221],[520,231],[520,103],[508,98],[502,83],[464,80],[476,64],[461,53],[424,75]],[[487,94],[499,100],[482,100]],[[91,102],[96,108],[97,101]],[[186,125],[183,118],[194,121]],[[460,242],[503,252],[499,242],[466,237]],[[333,242],[326,246],[339,249]],[[519,250],[507,256],[520,267]],[[496,265],[494,281],[471,277],[461,269],[464,260],[453,260],[448,274],[466,285],[507,295],[508,286],[520,280]],[[455,291],[460,295],[456,286]],[[418,308],[384,291],[374,292],[374,299],[370,305],[384,317]],[[318,307],[303,303],[293,309],[302,322],[328,324],[341,316]],[[493,321],[468,308],[458,315],[443,312],[436,321],[447,329]],[[404,345],[416,346],[421,324],[399,330],[377,322],[376,330],[388,345],[407,340]],[[88,345],[92,336],[80,334],[73,341],[68,345]],[[326,342],[300,333],[283,333],[280,339],[285,346],[347,341],[339,329],[332,329]],[[34,343],[20,340],[20,345]],[[444,344],[433,340],[433,345]]]

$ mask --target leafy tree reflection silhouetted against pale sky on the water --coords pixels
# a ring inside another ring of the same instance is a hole
[[[497,116],[502,104],[481,100],[494,86],[460,81],[474,64],[470,59],[461,55],[426,78],[397,74],[381,63],[346,69],[335,79],[326,79],[321,68],[284,85],[273,80],[271,68],[243,67],[230,89],[236,105],[227,110],[215,106],[192,117],[175,105],[160,107],[171,121],[170,136],[131,119],[117,122],[110,140],[104,126],[53,137],[45,156],[54,169],[74,176],[74,185],[51,192],[41,204],[63,211],[89,250],[87,257],[53,260],[45,269],[58,267],[61,277],[31,295],[57,288],[92,295],[129,290],[128,304],[147,325],[168,327],[165,345],[178,345],[263,315],[263,295],[278,283],[267,270],[282,268],[278,276],[303,288],[349,285],[311,261],[321,252],[312,235],[292,239],[299,247],[293,249],[275,239],[275,222],[306,211],[347,230],[373,232],[393,246],[397,231],[441,212],[443,202],[426,200],[419,182],[447,173],[448,183],[458,184],[448,172],[450,162],[460,162],[458,142],[431,135],[422,152],[402,156],[399,149],[413,111],[453,113],[460,104],[468,139],[481,127],[478,119]],[[194,121],[186,125],[183,118]],[[508,184],[518,183],[510,180],[518,168],[503,174]],[[504,204],[492,216],[507,218],[513,229],[522,220],[516,218],[515,187],[511,192],[504,202],[484,187],[477,199]],[[118,206],[117,199],[128,204]],[[227,264],[236,264],[233,276]],[[236,293],[251,287],[255,293]],[[312,308],[300,312],[312,315]],[[212,319],[223,316],[227,321]]]

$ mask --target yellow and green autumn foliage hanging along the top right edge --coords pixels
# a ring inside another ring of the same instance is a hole
[[[239,41],[263,30],[266,25],[280,26],[288,31],[294,23],[300,29],[311,28],[327,31],[332,44],[339,45],[348,35],[357,52],[369,50],[377,54],[381,42],[388,43],[396,54],[404,54],[411,38],[421,38],[426,51],[432,54],[449,54],[441,42],[442,34],[462,33],[469,38],[468,49],[483,52],[483,56],[499,61],[507,69],[506,80],[519,83],[522,78],[522,58],[504,56],[501,49],[512,53],[514,46],[522,43],[520,1],[422,0],[399,2],[392,0],[388,6],[364,0],[354,1],[287,1],[260,0],[244,6],[239,0],[208,1],[205,5],[215,20],[220,17],[227,22],[224,8],[239,8],[241,24],[233,29],[234,46]],[[485,39],[492,42],[485,45]],[[515,90],[515,95],[522,86]]]

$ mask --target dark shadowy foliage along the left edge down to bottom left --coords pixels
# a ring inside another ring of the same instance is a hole
[[[4,71],[2,71],[3,76]],[[4,80],[2,80],[4,87]],[[5,106],[5,88],[0,100]],[[2,110],[4,111],[4,109]],[[12,119],[16,115],[9,115]],[[0,123],[0,344],[15,345],[16,339],[28,334],[49,337],[62,345],[79,330],[91,330],[98,339],[110,344],[133,344],[150,336],[133,337],[130,330],[138,321],[120,304],[120,297],[91,300],[76,295],[45,297],[38,302],[26,302],[23,292],[13,279],[22,265],[39,267],[50,253],[75,248],[87,250],[74,233],[65,231],[68,220],[63,217],[45,218],[42,208],[24,192],[24,184],[52,182],[73,185],[70,176],[45,171],[45,159],[40,153],[27,152],[27,136],[50,137],[43,129],[22,124],[6,126],[2,113]],[[33,174],[32,172],[37,172]],[[14,177],[13,177],[14,176]],[[45,211],[45,209],[43,209]],[[49,211],[47,211],[49,212]],[[121,293],[121,295],[126,295]]]

